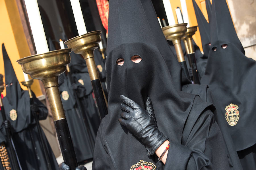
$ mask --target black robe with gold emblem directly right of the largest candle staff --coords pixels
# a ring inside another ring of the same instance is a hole
[[[77,161],[82,162],[91,159],[93,157],[94,144],[92,144],[90,139],[90,129],[87,129],[85,125],[82,110],[77,108],[77,101],[69,79],[65,74],[61,74],[59,79],[62,79],[62,81],[59,81],[59,91]]]

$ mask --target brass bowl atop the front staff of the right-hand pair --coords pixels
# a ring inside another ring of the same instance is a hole
[[[180,43],[181,37],[187,31],[187,23],[166,26],[162,28],[162,31],[166,39],[171,40],[173,44]]]

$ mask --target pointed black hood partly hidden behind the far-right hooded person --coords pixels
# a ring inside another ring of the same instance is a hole
[[[195,9],[195,14],[197,17],[197,24],[199,27],[199,32],[201,35],[201,41],[202,41],[202,46],[203,46],[203,51],[204,51],[204,56],[208,57],[208,53],[210,50],[210,27],[209,24],[207,22],[207,20],[205,19],[205,16],[203,15],[203,13],[201,12],[201,10],[199,9],[197,3],[195,2],[195,0],[193,0],[193,5],[194,5],[194,9]]]

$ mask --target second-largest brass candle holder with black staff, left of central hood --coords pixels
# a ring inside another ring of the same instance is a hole
[[[99,116],[100,119],[102,119],[104,116],[106,116],[106,114],[108,114],[108,104],[104,91],[102,90],[102,85],[100,83],[93,54],[93,51],[98,48],[98,43],[101,41],[100,34],[101,31],[92,31],[69,39],[64,43],[69,48],[72,48],[72,51],[74,51],[76,54],[82,54],[84,57],[90,75],[92,89],[96,98],[98,111],[100,114]]]

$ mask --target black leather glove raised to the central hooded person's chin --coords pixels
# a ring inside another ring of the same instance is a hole
[[[118,119],[137,138],[139,138],[148,151],[153,155],[155,150],[168,139],[160,132],[156,125],[154,109],[150,98],[146,101],[146,111],[133,100],[121,95],[121,117]]]

